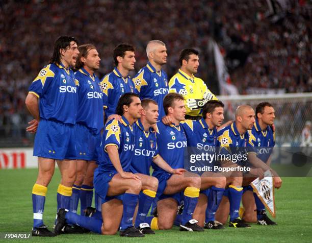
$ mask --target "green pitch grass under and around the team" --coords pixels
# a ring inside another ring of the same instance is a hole
[[[37,169],[0,170],[0,233],[30,233],[32,228],[31,191]],[[44,209],[44,222],[52,229],[56,213],[56,191],[60,173],[56,169],[48,186]],[[277,226],[258,226],[205,232],[157,231],[144,238],[121,238],[93,233],[60,235],[52,238],[32,237],[34,242],[311,242],[312,241],[312,178],[283,178],[282,188],[276,190]],[[8,240],[0,239],[7,242]],[[12,240],[11,240],[12,241]],[[25,241],[25,240],[14,240]]]

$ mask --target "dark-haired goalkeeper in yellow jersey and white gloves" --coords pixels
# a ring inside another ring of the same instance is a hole
[[[180,69],[169,81],[171,93],[182,94],[186,101],[186,119],[200,119],[202,107],[210,100],[218,100],[202,79],[194,76],[199,66],[199,52],[192,48],[181,51]]]

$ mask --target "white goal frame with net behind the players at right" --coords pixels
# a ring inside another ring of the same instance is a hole
[[[235,119],[235,110],[240,105],[270,102],[275,110],[275,133],[277,146],[300,146],[301,132],[307,121],[312,122],[312,92],[285,94],[251,94],[218,96],[225,104],[225,121]]]

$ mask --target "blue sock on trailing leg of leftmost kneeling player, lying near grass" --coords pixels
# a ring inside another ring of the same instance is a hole
[[[67,212],[65,215],[66,222],[72,225],[79,225],[85,229],[91,230],[94,233],[101,234],[103,221],[96,217],[85,217],[76,213]]]

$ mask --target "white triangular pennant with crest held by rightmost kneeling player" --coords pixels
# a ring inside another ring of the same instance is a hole
[[[268,170],[264,173],[264,178],[259,180],[255,179],[250,183],[253,191],[256,193],[261,202],[266,206],[271,215],[275,217],[275,197],[274,197],[274,186],[273,177],[271,172]]]

